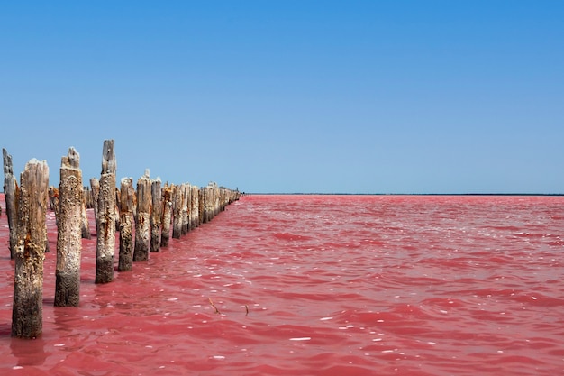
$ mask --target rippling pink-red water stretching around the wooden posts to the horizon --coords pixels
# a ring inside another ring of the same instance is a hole
[[[564,373],[564,197],[245,196],[109,284],[84,240],[77,308],[50,212],[34,341],[6,222],[2,375]]]

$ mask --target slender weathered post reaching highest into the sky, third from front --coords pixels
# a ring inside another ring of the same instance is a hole
[[[114,140],[105,140],[96,213],[96,283],[114,280],[115,170]]]

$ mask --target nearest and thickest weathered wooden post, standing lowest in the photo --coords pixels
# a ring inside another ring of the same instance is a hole
[[[43,330],[43,260],[49,167],[30,160],[20,178],[12,336],[37,338]]]

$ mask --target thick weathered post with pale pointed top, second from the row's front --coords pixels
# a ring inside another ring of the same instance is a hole
[[[80,155],[71,147],[60,162],[59,225],[55,306],[78,307],[80,301],[80,253],[82,251],[82,171]]]

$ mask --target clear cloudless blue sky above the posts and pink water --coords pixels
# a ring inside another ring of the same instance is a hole
[[[564,192],[564,1],[5,1],[0,54],[18,177]]]

